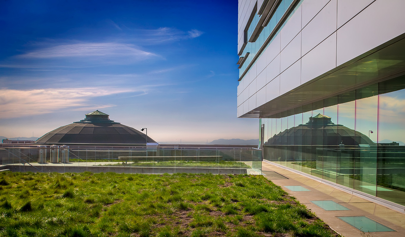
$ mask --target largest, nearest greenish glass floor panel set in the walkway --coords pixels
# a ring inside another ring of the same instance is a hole
[[[376,222],[375,220],[371,220],[366,216],[337,216],[337,218],[343,220],[347,224],[352,225],[356,229],[363,231],[364,233],[395,231],[383,224]]]

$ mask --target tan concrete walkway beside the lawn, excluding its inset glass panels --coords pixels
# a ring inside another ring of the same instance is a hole
[[[405,236],[405,214],[266,162],[262,162],[262,174],[276,185],[281,186],[287,193],[296,197],[300,203],[315,212],[319,218],[344,237]],[[290,191],[284,186],[302,186],[311,191]],[[351,210],[326,211],[311,203],[311,201],[316,200],[332,200]],[[337,218],[337,216],[367,216],[395,231],[370,233],[366,231],[366,233],[362,233],[352,225]]]

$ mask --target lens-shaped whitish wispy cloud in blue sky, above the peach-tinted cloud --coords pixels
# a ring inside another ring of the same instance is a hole
[[[18,57],[55,58],[55,57],[148,57],[155,56],[136,48],[132,44],[121,43],[79,43],[63,44],[28,52]]]

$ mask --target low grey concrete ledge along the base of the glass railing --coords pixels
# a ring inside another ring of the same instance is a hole
[[[120,166],[21,166],[21,165],[6,165],[4,169],[10,169],[13,172],[57,172],[57,173],[80,173],[80,172],[114,172],[125,174],[247,174],[247,169],[238,168],[162,168],[162,167],[120,167]]]

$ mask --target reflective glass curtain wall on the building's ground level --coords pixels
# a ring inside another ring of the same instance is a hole
[[[405,76],[262,118],[264,159],[405,206]]]

